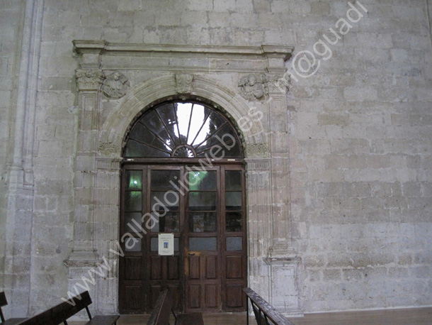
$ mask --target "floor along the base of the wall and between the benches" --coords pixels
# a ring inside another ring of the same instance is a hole
[[[205,325],[246,325],[243,313],[204,314]],[[145,325],[149,315],[122,315],[117,325]],[[249,324],[256,321],[250,317]],[[366,312],[333,312],[306,314],[305,317],[290,318],[295,325],[431,325],[432,307],[416,309],[386,309]],[[71,321],[69,325],[85,322]],[[174,321],[171,322],[174,324]]]

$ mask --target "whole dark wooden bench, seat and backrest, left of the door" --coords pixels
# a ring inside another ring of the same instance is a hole
[[[83,292],[75,297],[72,297],[67,302],[57,304],[57,306],[45,310],[25,321],[21,321],[17,325],[67,325],[67,319],[74,316],[83,309],[86,309],[87,315],[90,321],[86,325],[114,325],[117,324],[117,320],[120,316],[94,316],[91,317],[89,311],[89,305],[91,304],[91,298],[88,291]]]

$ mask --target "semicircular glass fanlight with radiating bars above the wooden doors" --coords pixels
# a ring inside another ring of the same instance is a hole
[[[241,158],[232,123],[204,104],[170,102],[146,111],[132,127],[126,158]]]

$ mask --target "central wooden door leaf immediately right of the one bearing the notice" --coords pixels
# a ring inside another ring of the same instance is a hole
[[[220,311],[220,169],[187,172],[186,312]]]

